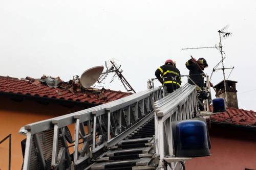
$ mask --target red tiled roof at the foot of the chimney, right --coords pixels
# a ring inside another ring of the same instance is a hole
[[[210,110],[212,111],[212,106],[210,106]],[[225,112],[212,115],[211,120],[219,123],[256,127],[256,112],[228,107]]]

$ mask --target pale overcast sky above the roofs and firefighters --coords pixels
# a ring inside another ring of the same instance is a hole
[[[45,74],[68,81],[115,58],[125,78],[141,91],[166,59],[175,60],[181,74],[187,75],[185,62],[190,55],[204,57],[210,75],[221,60],[218,50],[181,48],[218,45],[217,31],[226,25],[232,34],[223,41],[225,66],[235,67],[229,80],[238,81],[239,107],[256,111],[255,0],[1,0],[0,75],[40,78]],[[221,80],[222,71],[215,72],[212,83]],[[125,91],[117,78],[109,81],[105,88]]]

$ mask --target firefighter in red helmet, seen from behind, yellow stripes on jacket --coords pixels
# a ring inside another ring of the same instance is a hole
[[[160,66],[156,70],[155,76],[158,78],[160,83],[164,84],[164,86],[167,88],[167,93],[172,93],[174,90],[180,88],[180,71],[178,68],[176,68],[176,64],[173,60],[166,60],[164,65]]]

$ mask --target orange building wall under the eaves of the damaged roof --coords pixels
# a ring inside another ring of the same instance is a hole
[[[16,102],[0,96],[0,140],[12,134],[11,169],[21,169],[23,163],[20,141],[26,138],[18,134],[24,125],[72,113],[84,109],[61,106],[57,103],[40,104],[34,101]],[[0,169],[8,169],[9,140],[0,144]]]

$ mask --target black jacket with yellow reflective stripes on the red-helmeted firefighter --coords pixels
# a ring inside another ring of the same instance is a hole
[[[174,86],[180,87],[181,85],[181,78],[180,76],[180,71],[178,68],[174,67],[173,65],[162,65],[159,67],[156,72],[155,72],[156,77],[158,80],[161,82],[161,84],[173,84]],[[164,82],[163,79],[159,78],[165,78]]]

